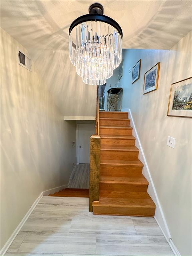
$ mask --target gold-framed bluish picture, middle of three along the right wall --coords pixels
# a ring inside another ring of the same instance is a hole
[[[158,62],[155,66],[149,69],[145,73],[144,84],[143,84],[143,94],[157,90],[158,87],[158,79],[159,79],[159,68],[160,62]]]

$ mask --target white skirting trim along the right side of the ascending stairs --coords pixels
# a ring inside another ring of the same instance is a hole
[[[149,171],[149,167],[147,165],[147,160],[145,158],[145,154],[137,133],[137,129],[135,127],[135,123],[133,120],[133,116],[131,113],[131,110],[126,108],[126,109],[122,109],[122,111],[127,111],[129,112],[129,118],[130,118],[130,126],[133,127],[133,136],[135,136],[136,140],[135,140],[135,146],[139,149],[139,159],[141,160],[141,162],[144,164],[143,166],[143,175],[145,176],[145,178],[149,181],[149,186],[148,186],[148,194],[150,195],[150,197],[153,199],[154,203],[156,204],[156,211],[155,211],[155,220],[157,221],[157,224],[159,225],[160,229],[162,230],[163,235],[165,236],[165,239],[167,240],[167,242],[169,243],[173,253],[175,255],[180,256],[179,251],[177,250],[177,248],[175,247],[175,245],[173,244],[173,241],[171,239],[171,234],[159,201],[159,198],[157,196],[157,192]]]

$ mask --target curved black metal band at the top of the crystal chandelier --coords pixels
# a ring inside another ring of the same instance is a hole
[[[102,22],[108,23],[108,24],[112,25],[119,32],[121,39],[123,38],[123,32],[122,32],[122,29],[119,26],[119,24],[115,20],[111,19],[110,17],[102,15],[102,14],[85,14],[85,15],[80,16],[79,18],[75,19],[71,23],[71,26],[69,28],[69,35],[74,27],[76,27],[78,24],[86,22],[86,21],[102,21]]]

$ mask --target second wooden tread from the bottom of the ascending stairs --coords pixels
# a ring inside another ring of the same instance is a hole
[[[137,177],[111,177],[102,175],[100,176],[100,183],[149,185],[149,182],[143,174],[140,174]]]

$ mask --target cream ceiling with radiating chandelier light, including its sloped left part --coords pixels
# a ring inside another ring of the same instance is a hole
[[[68,30],[93,1],[1,1],[1,27],[35,62],[64,116],[94,116],[96,87],[69,61]],[[99,1],[123,30],[123,48],[170,49],[192,29],[192,1]]]

